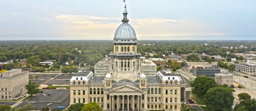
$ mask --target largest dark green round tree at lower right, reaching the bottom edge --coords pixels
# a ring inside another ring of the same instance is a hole
[[[223,87],[214,87],[207,91],[203,102],[210,111],[231,111],[234,102],[232,93]]]

